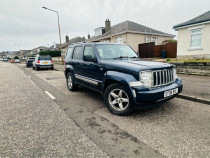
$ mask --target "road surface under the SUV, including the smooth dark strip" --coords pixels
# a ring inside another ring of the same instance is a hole
[[[33,81],[30,84],[38,86],[43,95],[47,90],[55,97],[50,104],[61,109],[62,114],[59,115],[67,114],[69,120],[76,123],[98,150],[105,152],[100,152],[102,155],[209,157],[209,105],[175,98],[160,107],[119,117],[109,113],[100,94],[82,87],[76,92],[69,92],[63,71],[34,71],[23,64],[19,68],[22,70],[20,76],[30,76],[30,81]],[[5,83],[9,84],[7,81]],[[50,114],[46,117],[54,118]]]

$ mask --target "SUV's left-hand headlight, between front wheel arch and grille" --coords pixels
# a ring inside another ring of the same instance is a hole
[[[153,84],[152,72],[151,71],[141,71],[140,72],[140,81],[146,87],[152,87],[152,84]]]

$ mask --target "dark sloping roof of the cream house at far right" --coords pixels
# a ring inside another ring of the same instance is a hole
[[[175,25],[173,29],[210,21],[210,10],[186,22]]]

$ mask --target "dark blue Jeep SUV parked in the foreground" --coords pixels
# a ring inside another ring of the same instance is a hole
[[[73,44],[64,73],[70,91],[82,85],[100,92],[116,115],[154,107],[182,91],[174,65],[142,60],[123,44]]]

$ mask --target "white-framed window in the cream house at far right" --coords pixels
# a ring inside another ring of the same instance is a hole
[[[191,48],[201,47],[201,29],[191,30]]]

